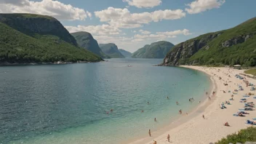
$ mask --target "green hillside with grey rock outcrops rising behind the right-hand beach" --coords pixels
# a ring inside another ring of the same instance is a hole
[[[256,17],[173,47],[162,65],[256,65]]]

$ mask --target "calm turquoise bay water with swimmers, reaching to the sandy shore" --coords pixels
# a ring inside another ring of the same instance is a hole
[[[0,143],[124,143],[170,124],[205,99],[210,80],[159,63],[0,67]]]

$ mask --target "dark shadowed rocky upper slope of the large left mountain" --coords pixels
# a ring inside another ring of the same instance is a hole
[[[76,39],[54,17],[33,14],[0,14],[0,22],[27,35],[57,36],[63,41],[77,46]]]

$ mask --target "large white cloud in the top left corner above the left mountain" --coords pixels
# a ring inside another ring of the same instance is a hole
[[[84,9],[52,0],[0,0],[0,12],[50,15],[58,20],[85,20],[87,16],[92,17],[92,14]]]

